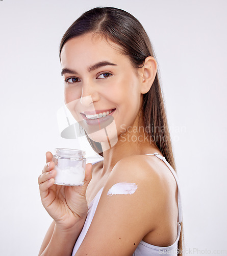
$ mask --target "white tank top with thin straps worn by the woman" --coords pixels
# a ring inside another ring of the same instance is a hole
[[[182,222],[182,204],[181,204],[181,195],[180,195],[180,187],[179,187],[179,180],[178,177],[176,176],[176,173],[174,171],[174,169],[172,168],[172,166],[166,161],[165,157],[160,156],[158,153],[154,153],[154,154],[146,154],[146,155],[153,155],[158,157],[159,159],[161,159],[170,169],[170,172],[172,173],[172,175],[175,178],[176,181],[176,185],[178,186],[178,233],[176,236],[176,240],[175,242],[170,245],[170,246],[156,246],[156,245],[152,245],[152,244],[148,244],[144,241],[141,240],[141,242],[139,243],[139,245],[137,246],[136,250],[134,251],[132,256],[160,256],[161,254],[167,254],[167,255],[171,255],[171,256],[176,256],[178,254],[178,241],[180,238],[180,232],[181,232],[181,222]],[[92,164],[95,164],[97,162],[100,162],[102,160],[96,161]],[[84,223],[84,227],[81,230],[80,236],[77,239],[77,242],[75,242],[74,248],[72,250],[72,256],[75,255],[75,253],[78,251],[80,245],[82,244],[86,233],[88,231],[88,228],[91,225],[92,219],[94,217],[95,214],[95,210],[97,208],[99,199],[102,195],[104,187],[102,187],[98,193],[96,194],[96,196],[94,197],[94,199],[91,201],[91,203],[88,205],[88,214],[87,214],[87,218],[86,221]]]

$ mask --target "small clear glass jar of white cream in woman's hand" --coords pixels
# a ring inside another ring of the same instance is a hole
[[[55,184],[81,186],[84,184],[86,158],[85,151],[71,148],[56,148],[53,162],[57,175]]]

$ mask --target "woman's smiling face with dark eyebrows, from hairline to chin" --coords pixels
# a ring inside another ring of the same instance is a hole
[[[92,35],[72,38],[62,49],[64,100],[92,140],[107,141],[108,135],[117,141],[137,122],[142,78],[118,45]]]

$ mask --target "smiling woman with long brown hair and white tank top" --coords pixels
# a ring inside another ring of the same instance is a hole
[[[38,182],[54,221],[39,255],[178,254],[178,179],[157,62],[142,25],[123,10],[94,8],[66,31],[60,59],[65,103],[104,159],[86,164],[83,186],[67,187],[54,184],[46,153]]]

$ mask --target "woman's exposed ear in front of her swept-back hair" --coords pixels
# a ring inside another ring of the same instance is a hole
[[[147,93],[155,80],[157,74],[157,61],[154,57],[148,56],[144,60],[144,65],[139,69],[139,75],[142,79],[140,92]]]

